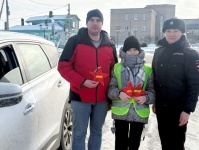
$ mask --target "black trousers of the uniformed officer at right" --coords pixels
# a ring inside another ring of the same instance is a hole
[[[181,112],[157,111],[162,150],[185,150],[187,124],[179,126]]]

